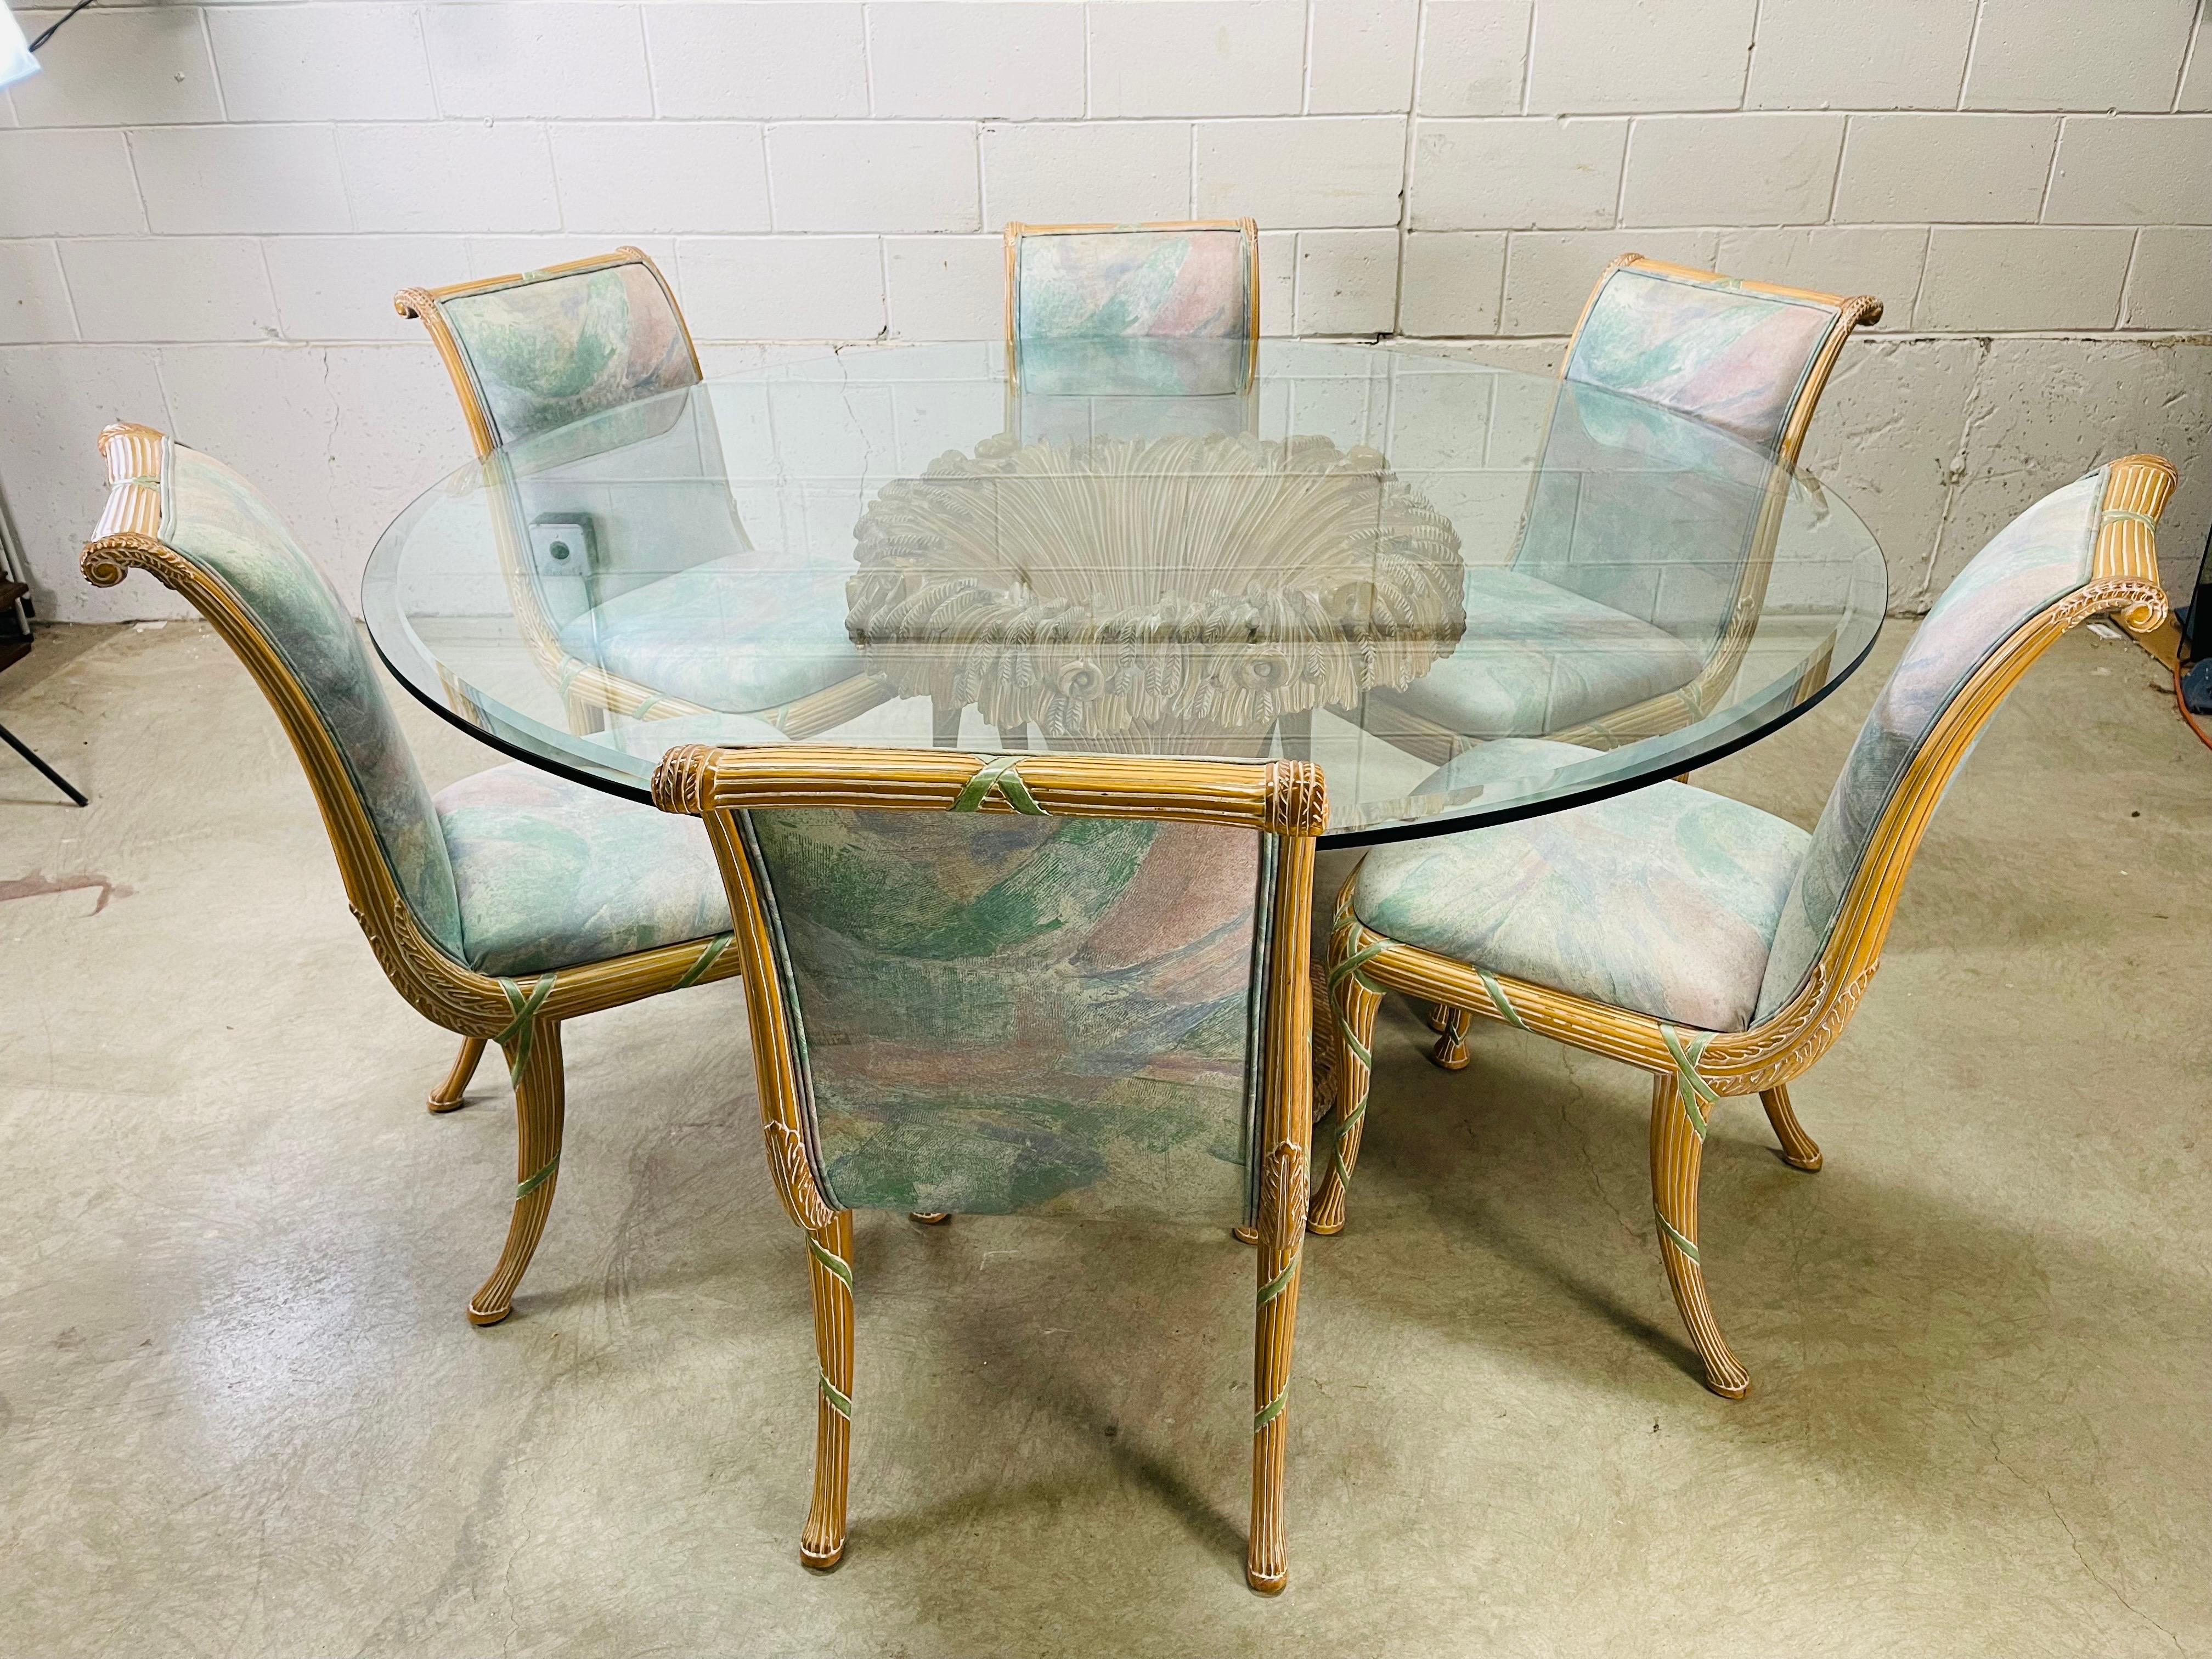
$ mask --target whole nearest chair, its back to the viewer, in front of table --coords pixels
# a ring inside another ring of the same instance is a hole
[[[714,843],[768,1168],[807,1234],[801,1559],[845,1551],[852,1210],[1197,1217],[1259,1232],[1245,1577],[1281,1590],[1321,774],[675,748],[653,799]]]

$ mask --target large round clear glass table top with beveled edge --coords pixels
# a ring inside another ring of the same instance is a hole
[[[1723,427],[1310,341],[774,363],[460,467],[363,580],[411,692],[617,794],[697,741],[1292,757],[1327,845],[1719,759],[1885,602],[1851,509]]]

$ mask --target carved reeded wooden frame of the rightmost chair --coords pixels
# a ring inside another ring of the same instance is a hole
[[[1652,1073],[1652,1201],[1659,1217],[1659,1256],[1690,1340],[1705,1365],[1705,1387],[1743,1398],[1752,1378],[1721,1336],[1699,1263],[1697,1179],[1705,1126],[1732,1095],[1759,1095],[1781,1139],[1783,1159],[1798,1170],[1820,1168],[1820,1148],[1790,1108],[1790,1082],[1805,1073],[1843,1035],[1851,1011],[1882,960],[1882,942],[1898,909],[1913,852],[1929,818],[1966,759],[1982,726],[2013,684],[2064,633],[2088,617],[2117,613],[2130,633],[2166,619],[2159,586],[2154,522],[2174,489],[2174,469],[2159,456],[2126,456],[2110,465],[2093,544],[2090,580],[2024,622],[1973,670],[1891,792],[1858,872],[1843,896],[1827,945],[1787,1004],[1747,1031],[1692,1031],[1606,1002],[1484,973],[1416,945],[1385,938],[1352,914],[1354,872],[1336,898],[1329,940],[1329,991],[1343,1053],[1338,1102],[1343,1119],[1336,1155],[1314,1194],[1314,1232],[1345,1225],[1345,1183],[1358,1164],[1376,1009],[1385,991],[1438,1004],[1431,1024],[1442,1033],[1431,1060],[1447,1071],[1467,1064],[1473,1015],[1500,1020]]]

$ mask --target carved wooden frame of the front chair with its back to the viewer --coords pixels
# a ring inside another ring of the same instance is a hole
[[[1009,787],[1013,785],[1013,787]],[[1314,838],[1327,827],[1321,772],[1303,761],[1166,761],[1139,757],[973,754],[847,748],[721,750],[681,745],[661,757],[653,801],[706,821],[730,891],[745,973],[752,1062],[768,1170],[783,1210],[807,1234],[814,1343],[821,1385],[814,1433],[814,1500],[799,1557],[834,1566],[845,1551],[852,1436],[852,1210],[823,1197],[807,1157],[803,1093],[783,980],[763,896],[743,849],[741,814],[757,807],[909,812],[1031,812],[1066,818],[1146,818],[1254,830],[1281,838],[1267,1004],[1259,1157],[1259,1310],[1254,1334],[1252,1531],[1245,1577],[1276,1593],[1287,1577],[1283,1544],[1283,1407],[1298,1316],[1301,1245],[1312,1157]],[[1020,805],[1015,805],[1020,801]]]

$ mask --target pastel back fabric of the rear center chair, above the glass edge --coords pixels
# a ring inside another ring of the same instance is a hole
[[[1252,332],[1250,248],[1241,230],[1024,232],[1013,259],[1018,341]]]

